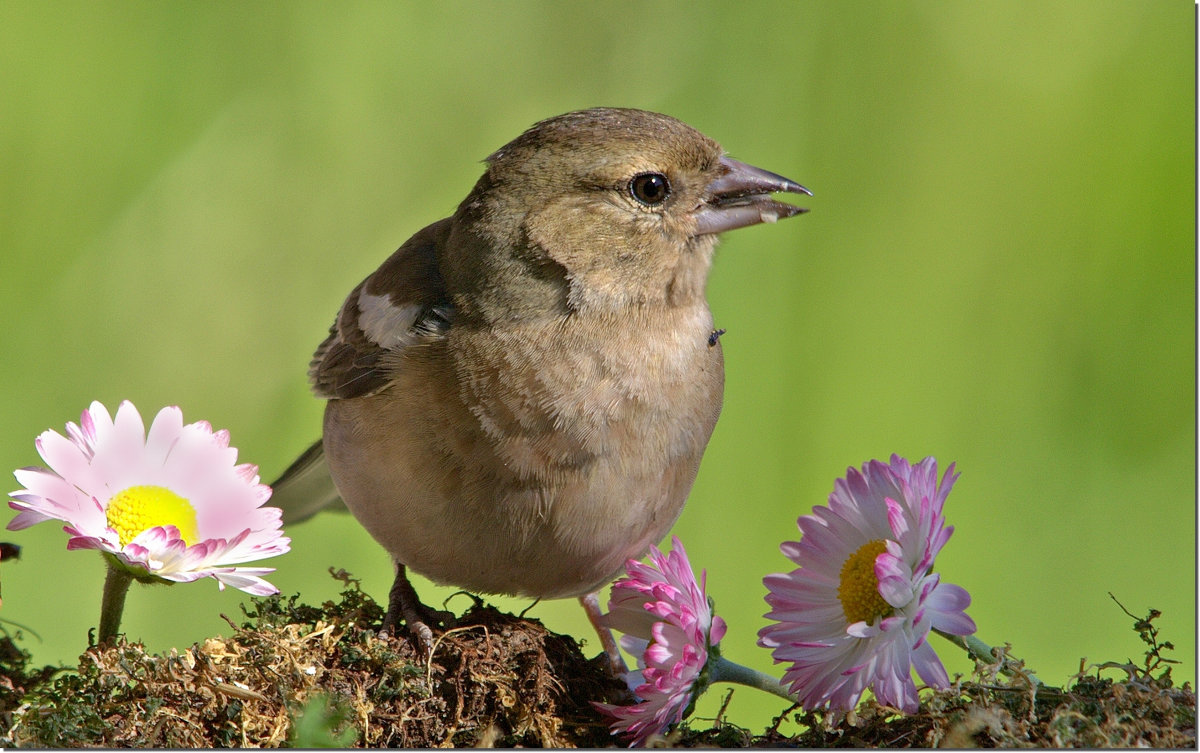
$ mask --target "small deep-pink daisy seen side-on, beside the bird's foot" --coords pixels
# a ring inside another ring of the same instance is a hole
[[[612,586],[606,627],[625,633],[620,644],[638,657],[625,682],[640,699],[631,706],[595,704],[614,717],[613,734],[630,746],[646,745],[680,719],[708,686],[709,661],[716,658],[725,620],[713,614],[704,595],[704,574],[696,583],[679,538],[662,554],[650,549],[650,565],[630,560],[628,576]]]

